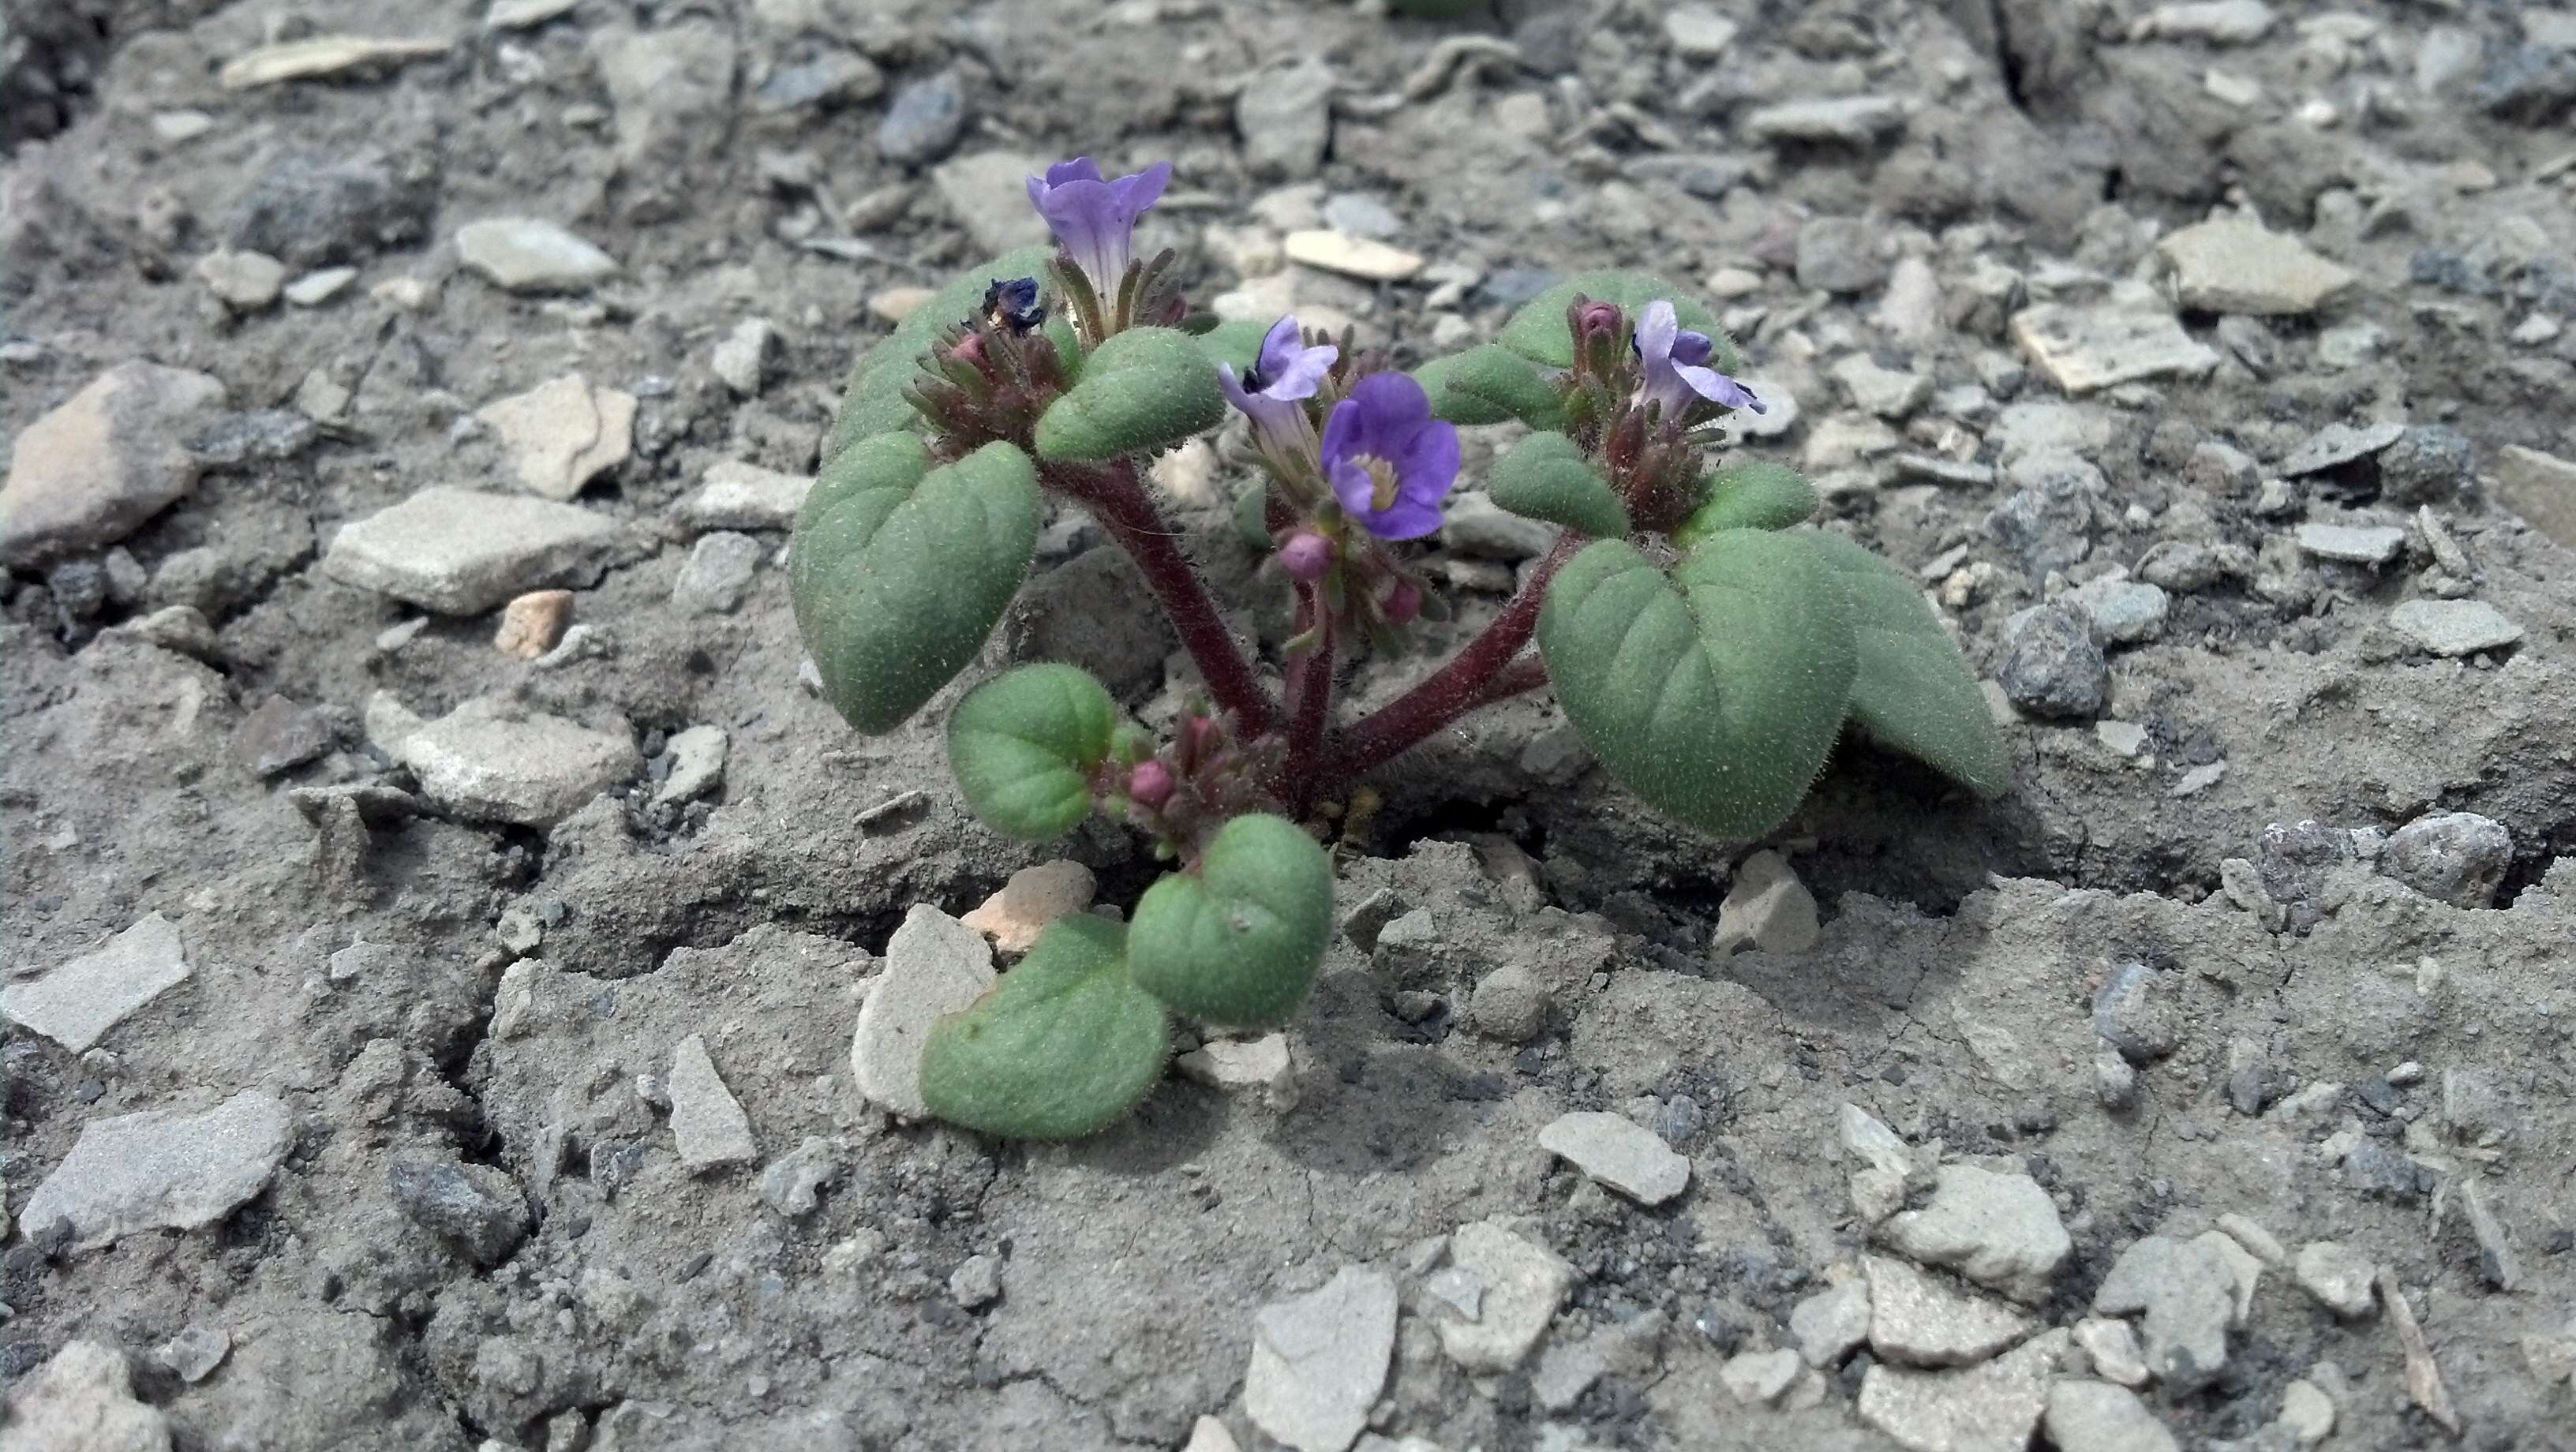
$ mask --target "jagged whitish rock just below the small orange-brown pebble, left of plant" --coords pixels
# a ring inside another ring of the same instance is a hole
[[[641,759],[623,731],[474,698],[438,721],[376,693],[366,736],[420,777],[420,793],[466,821],[554,826],[631,777]]]

